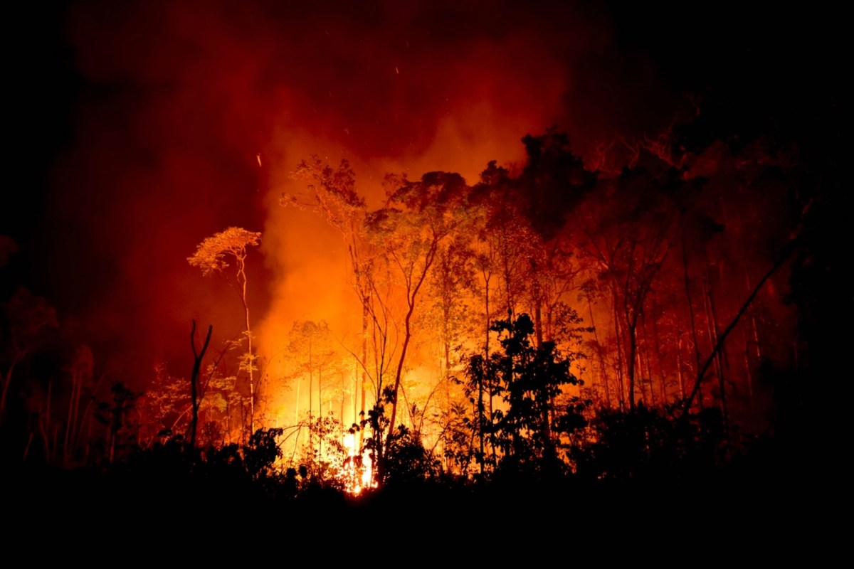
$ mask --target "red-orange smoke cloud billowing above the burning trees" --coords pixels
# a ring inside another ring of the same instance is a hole
[[[551,125],[585,154],[664,124],[674,96],[652,63],[582,4],[73,3],[73,141],[41,222],[61,314],[128,354],[139,386],[155,361],[187,373],[191,319],[214,344],[242,321],[186,258],[237,225],[263,231],[248,267],[262,350],[295,319],[346,322],[340,236],[278,206],[300,160],[347,158],[377,205],[386,172],[473,183]]]

